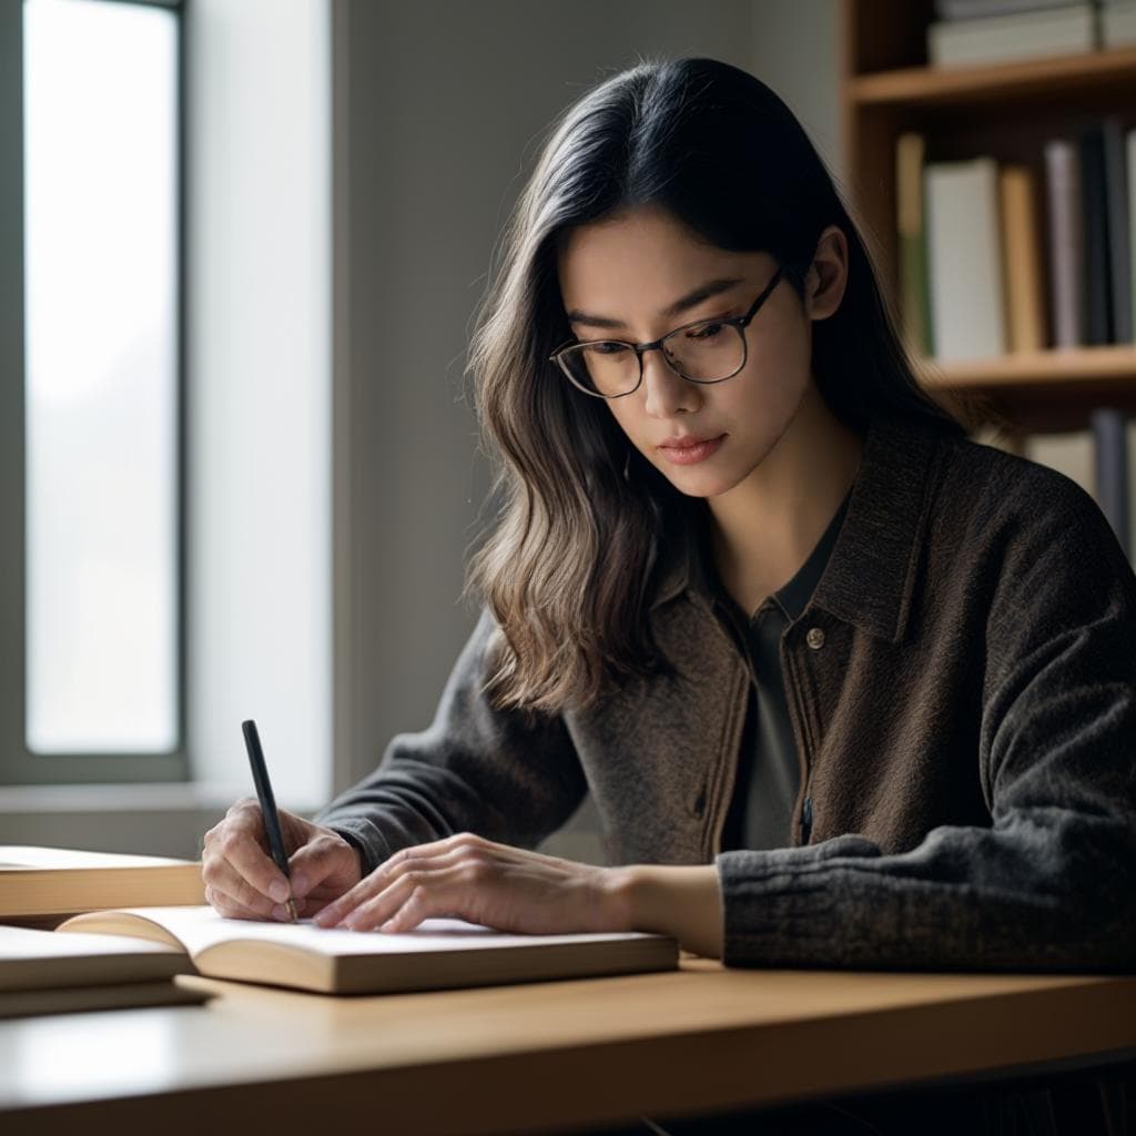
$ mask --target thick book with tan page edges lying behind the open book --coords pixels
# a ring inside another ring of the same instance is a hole
[[[0,918],[201,904],[201,864],[167,857],[0,845]]]

